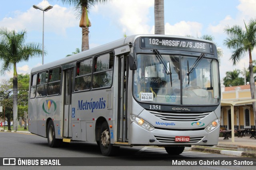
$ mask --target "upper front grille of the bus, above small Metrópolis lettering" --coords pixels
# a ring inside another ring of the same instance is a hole
[[[209,113],[166,113],[148,110],[150,113],[164,121],[199,121],[206,117]]]

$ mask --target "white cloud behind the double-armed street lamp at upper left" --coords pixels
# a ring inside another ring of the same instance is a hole
[[[45,8],[50,5],[47,1],[42,1],[37,6]],[[0,26],[7,27],[12,30],[42,31],[43,12],[33,7],[26,12],[14,11],[11,16],[0,20]],[[69,27],[78,26],[79,21],[76,20],[73,8],[65,8],[54,5],[53,8],[44,12],[44,29],[56,34],[65,34]]]

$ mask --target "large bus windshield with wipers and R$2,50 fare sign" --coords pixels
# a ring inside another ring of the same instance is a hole
[[[198,57],[162,54],[159,60],[154,54],[137,54],[134,97],[170,105],[218,104],[218,61],[202,57],[197,62]]]

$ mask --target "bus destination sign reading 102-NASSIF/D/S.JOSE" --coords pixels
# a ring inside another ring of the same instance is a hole
[[[212,43],[177,39],[169,37],[142,37],[140,47],[143,49],[172,49],[213,54]]]

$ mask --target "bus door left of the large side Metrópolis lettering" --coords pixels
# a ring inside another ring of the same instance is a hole
[[[72,97],[72,82],[73,82],[74,69],[64,70],[63,82],[64,86],[62,92],[64,94],[64,115],[63,115],[63,137],[72,137],[72,107],[71,107],[71,97]]]

